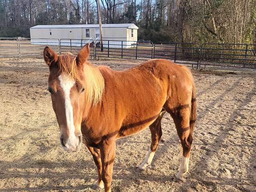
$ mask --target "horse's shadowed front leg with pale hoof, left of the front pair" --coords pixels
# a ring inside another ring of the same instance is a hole
[[[103,189],[104,183],[102,181],[102,162],[101,162],[101,158],[100,158],[100,151],[97,148],[93,148],[93,147],[89,147],[89,146],[87,146],[87,148],[89,149],[90,153],[93,155],[94,163],[96,164],[97,169],[98,169],[98,180],[92,186],[92,188],[94,190],[96,190],[98,188]]]

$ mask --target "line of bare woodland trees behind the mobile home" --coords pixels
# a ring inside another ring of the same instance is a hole
[[[256,43],[256,0],[100,0],[102,23],[134,23],[138,39]],[[29,27],[95,24],[95,0],[0,0],[0,37]]]

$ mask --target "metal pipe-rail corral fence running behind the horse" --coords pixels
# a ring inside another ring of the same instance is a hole
[[[90,56],[148,60],[164,58],[192,67],[240,67],[256,69],[256,44],[141,42],[103,39],[0,38],[0,58],[42,57],[46,45],[58,54],[78,53],[90,43]]]

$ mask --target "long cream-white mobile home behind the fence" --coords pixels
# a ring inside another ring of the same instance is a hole
[[[104,47],[131,47],[137,42],[137,30],[133,23],[102,24]],[[56,45],[59,39],[61,45],[80,47],[99,40],[99,24],[37,25],[30,28],[30,38],[32,44]]]

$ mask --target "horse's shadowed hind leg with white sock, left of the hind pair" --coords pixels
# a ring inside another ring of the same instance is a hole
[[[149,129],[151,132],[150,149],[148,150],[148,153],[147,153],[143,163],[141,163],[140,166],[137,168],[137,171],[145,171],[147,166],[149,166],[152,162],[155,151],[157,149],[157,145],[162,136],[161,119],[163,118],[163,115],[165,112],[166,111],[164,111],[164,110],[161,111],[161,113],[159,114],[157,119],[149,126]]]

